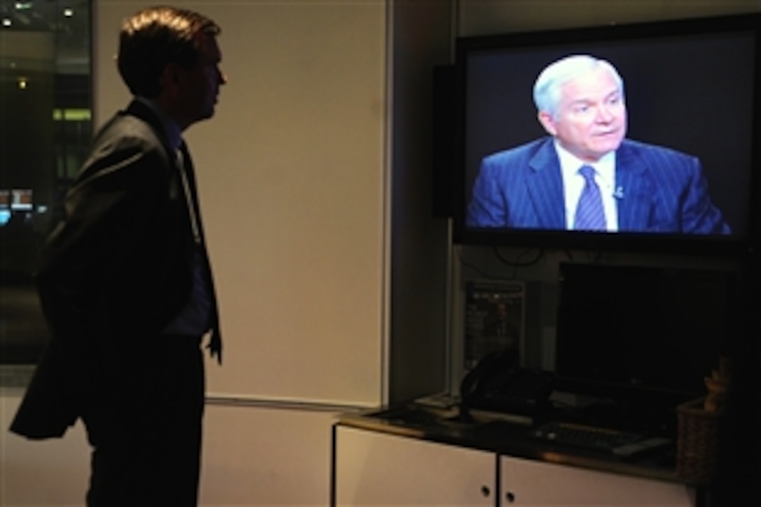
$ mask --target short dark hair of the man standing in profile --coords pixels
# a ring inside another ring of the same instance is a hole
[[[177,63],[189,69],[199,56],[197,36],[217,36],[221,28],[202,14],[168,6],[146,8],[124,21],[117,64],[132,94],[161,93],[164,68]]]

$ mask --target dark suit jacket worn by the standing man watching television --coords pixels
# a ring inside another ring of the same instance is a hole
[[[139,374],[135,360],[189,301],[194,249],[174,148],[135,100],[98,132],[43,249],[37,288],[52,336],[11,431],[61,436]]]

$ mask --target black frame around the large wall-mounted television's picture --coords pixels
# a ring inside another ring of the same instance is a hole
[[[750,32],[755,40],[753,80],[756,91],[752,104],[750,139],[761,138],[761,13],[733,14],[709,18],[650,21],[632,24],[610,24],[595,27],[565,28],[520,33],[458,37],[453,65],[454,84],[454,160],[451,179],[454,244],[541,247],[582,250],[622,250],[654,253],[740,254],[757,249],[761,240],[761,142],[751,148],[750,188],[748,189],[747,234],[737,236],[677,235],[647,233],[594,233],[565,230],[528,230],[521,228],[469,228],[465,224],[470,187],[466,184],[466,63],[475,52],[498,49],[541,49],[564,43],[610,43],[626,40],[647,40],[671,36],[712,33]],[[624,76],[626,79],[626,76]]]

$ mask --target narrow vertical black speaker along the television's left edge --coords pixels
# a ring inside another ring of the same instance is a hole
[[[454,65],[437,65],[433,69],[433,139],[431,145],[431,178],[433,214],[451,217],[454,212],[455,168],[460,160],[457,148],[461,142],[460,81]]]

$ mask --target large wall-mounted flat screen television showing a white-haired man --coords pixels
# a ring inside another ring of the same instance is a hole
[[[761,202],[759,32],[756,13],[459,38],[454,241],[691,253],[753,249]],[[597,180],[607,202],[603,231],[575,229],[573,199],[583,183],[578,175],[562,176],[568,172],[561,170],[556,137],[540,123],[533,100],[540,72],[577,55],[610,62],[622,78],[620,97],[587,97],[582,88],[580,99],[568,99],[585,101],[568,107],[573,114],[583,110],[587,123],[559,116],[562,123],[551,124],[572,154],[599,140],[593,136],[625,128],[607,179]],[[623,104],[625,116],[608,128],[607,107],[614,102]],[[672,160],[673,151],[686,158]]]

